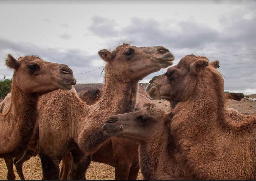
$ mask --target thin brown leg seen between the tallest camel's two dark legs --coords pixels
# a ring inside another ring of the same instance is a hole
[[[65,157],[62,158],[62,167],[60,171],[61,180],[71,179],[70,178],[71,165],[72,165],[72,155],[69,152]]]

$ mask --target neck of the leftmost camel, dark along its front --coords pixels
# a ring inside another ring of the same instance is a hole
[[[37,121],[37,95],[24,93],[16,82],[14,72],[12,88],[11,88],[11,106],[4,122],[7,129],[4,130],[5,135],[9,135],[7,139],[3,139],[5,144],[5,153],[16,154],[25,149],[33,134],[34,126]],[[6,138],[6,137],[5,137]],[[19,140],[22,140],[20,144]],[[18,144],[19,143],[19,144]],[[15,152],[15,153],[13,153]]]

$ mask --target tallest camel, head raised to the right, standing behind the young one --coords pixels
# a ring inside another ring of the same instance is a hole
[[[133,111],[138,81],[168,67],[174,59],[164,47],[138,48],[128,44],[112,52],[99,51],[99,55],[107,63],[106,84],[97,103],[88,106],[78,98],[74,89],[42,96],[39,106],[39,155],[44,179],[59,178],[59,162],[70,151],[73,157],[72,179],[83,179],[85,165],[82,163],[87,159],[84,153],[94,153],[109,139],[100,132],[105,120],[114,114]],[[115,145],[112,146],[115,148]],[[129,153],[129,150],[126,151]]]

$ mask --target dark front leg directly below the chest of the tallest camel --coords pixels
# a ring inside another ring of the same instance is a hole
[[[87,156],[79,148],[71,151],[73,156],[71,179],[86,179],[85,172],[90,165],[91,156]]]

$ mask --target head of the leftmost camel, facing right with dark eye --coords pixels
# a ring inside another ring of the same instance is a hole
[[[38,56],[24,56],[16,60],[10,54],[5,61],[8,67],[14,69],[13,79],[24,93],[70,90],[76,84],[67,65],[50,63]]]

